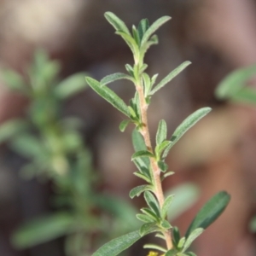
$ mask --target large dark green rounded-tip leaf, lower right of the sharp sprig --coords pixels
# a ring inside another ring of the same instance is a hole
[[[186,232],[186,237],[189,237],[198,228],[206,230],[224,212],[229,202],[230,195],[225,191],[218,192],[218,194],[214,195],[197,213]]]

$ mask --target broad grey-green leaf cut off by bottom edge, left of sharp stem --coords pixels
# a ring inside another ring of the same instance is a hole
[[[116,256],[119,253],[125,251],[125,249],[131,247],[136,241],[138,241],[146,233],[140,234],[140,231],[133,231],[124,236],[119,236],[118,238],[108,241],[102,247],[100,247],[91,256]]]

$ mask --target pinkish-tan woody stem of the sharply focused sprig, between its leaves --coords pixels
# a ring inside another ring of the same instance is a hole
[[[148,151],[154,154],[154,150],[152,148],[150,135],[149,135],[149,131],[148,131],[148,113],[147,113],[148,104],[144,97],[143,86],[141,86],[141,84],[137,84],[136,89],[137,89],[138,96],[139,96],[141,118],[142,118],[142,123],[143,123],[140,132],[144,138],[144,141],[145,141]],[[164,201],[165,201],[165,195],[163,193],[162,183],[161,183],[161,179],[160,179],[160,168],[158,167],[157,162],[154,159],[154,157],[150,157],[150,165],[152,167],[152,172],[153,172],[153,177],[154,177],[154,189],[155,189],[154,195],[156,196],[157,200],[159,201],[160,208],[162,208]],[[172,249],[171,232],[166,231],[164,233],[164,236],[166,237],[167,249],[168,250]]]

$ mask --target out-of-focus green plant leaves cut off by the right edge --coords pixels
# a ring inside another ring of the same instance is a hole
[[[256,105],[256,90],[247,86],[250,79],[255,77],[256,65],[236,69],[218,84],[215,95],[220,100]],[[256,216],[251,220],[249,229],[256,232]]]

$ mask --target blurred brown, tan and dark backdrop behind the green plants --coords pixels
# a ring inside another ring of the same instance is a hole
[[[106,11],[118,15],[129,27],[143,18],[152,23],[162,15],[172,16],[157,32],[160,44],[148,50],[148,73],[159,73],[161,79],[183,61],[192,61],[192,65],[154,96],[149,108],[152,137],[160,119],[166,119],[171,136],[189,113],[205,106],[213,108],[168,158],[171,170],[177,173],[166,179],[165,188],[191,182],[201,191],[198,201],[174,223],[185,232],[203,203],[226,190],[232,196],[230,205],[195,242],[195,252],[199,256],[256,255],[256,237],[249,227],[256,201],[256,108],[218,102],[214,96],[224,76],[256,62],[255,1],[1,0],[0,68],[26,76],[35,50],[44,48],[51,60],[60,61],[61,79],[78,72],[95,79],[125,72],[132,55],[104,19]],[[129,82],[110,87],[126,102],[134,90]],[[0,125],[26,117],[29,104],[26,96],[8,89],[0,73]],[[79,131],[100,177],[97,190],[131,203],[128,193],[140,181],[132,175],[131,129],[124,134],[118,129],[123,117],[90,89],[69,98],[62,108],[64,117],[83,121]],[[61,238],[23,250],[10,242],[11,234],[25,220],[53,211],[52,183],[22,179],[19,170],[24,161],[7,143],[1,145],[0,255],[65,255]],[[133,203],[143,206],[137,199]],[[137,252],[131,255],[147,255]]]

